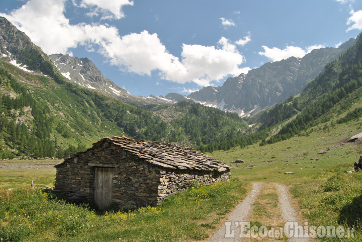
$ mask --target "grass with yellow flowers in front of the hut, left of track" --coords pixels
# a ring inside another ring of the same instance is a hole
[[[225,218],[246,189],[240,181],[194,186],[160,206],[97,212],[29,186],[1,190],[0,238],[5,241],[200,240]]]

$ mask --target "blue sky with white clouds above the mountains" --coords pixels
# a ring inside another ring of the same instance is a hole
[[[47,54],[88,57],[132,95],[188,95],[362,31],[352,0],[1,0]]]

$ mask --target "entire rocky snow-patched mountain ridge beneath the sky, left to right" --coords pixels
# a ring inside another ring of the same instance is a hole
[[[0,19],[0,26],[4,25],[5,18]],[[5,31],[16,37],[17,32],[11,27],[11,23],[5,23]],[[4,32],[4,30],[3,30]],[[4,36],[4,33],[2,33]],[[24,33],[23,33],[24,34]],[[12,36],[12,35],[10,35]],[[88,58],[70,57],[69,55],[52,54],[49,57],[42,54],[39,47],[32,44],[31,40],[23,38],[20,44],[12,45],[12,42],[4,38],[0,43],[6,43],[2,48],[1,59],[16,64],[20,68],[24,64],[30,71],[40,71],[52,78],[59,79],[59,74],[69,81],[80,86],[97,89],[98,91],[116,97],[123,102],[142,106],[148,109],[156,109],[162,103],[175,103],[179,101],[195,101],[203,105],[219,108],[224,111],[236,112],[240,116],[255,114],[260,110],[282,102],[291,95],[300,93],[306,84],[316,77],[331,60],[351,46],[355,39],[350,39],[338,48],[328,47],[315,49],[303,58],[290,57],[278,62],[267,62],[259,68],[250,70],[246,75],[240,74],[229,77],[222,86],[204,87],[188,96],[178,93],[168,93],[165,96],[148,97],[133,96],[125,89],[117,86],[112,80],[103,76],[101,71]],[[25,53],[25,46],[31,46],[31,53]],[[13,53],[7,51],[11,50]],[[20,54],[18,54],[20,53]],[[34,59],[40,61],[31,61]],[[30,58],[31,57],[31,58]],[[44,60],[44,61],[43,61]],[[17,63],[20,61],[21,63]],[[83,65],[83,62],[85,63]],[[56,70],[50,63],[54,63]]]

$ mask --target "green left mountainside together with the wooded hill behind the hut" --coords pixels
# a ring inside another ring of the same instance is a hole
[[[197,146],[232,139],[247,128],[237,114],[187,102],[166,108],[178,113],[166,123],[163,115],[58,78],[0,61],[0,159],[63,158],[120,135]]]

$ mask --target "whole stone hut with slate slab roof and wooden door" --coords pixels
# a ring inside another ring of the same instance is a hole
[[[194,180],[212,184],[230,176],[229,166],[195,149],[124,136],[104,138],[55,167],[56,191],[100,209],[156,205]]]

